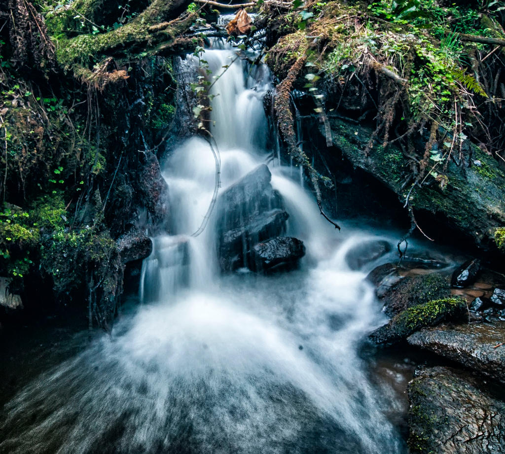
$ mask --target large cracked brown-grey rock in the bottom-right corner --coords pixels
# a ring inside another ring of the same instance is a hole
[[[505,403],[471,378],[434,367],[409,383],[411,453],[505,452]]]

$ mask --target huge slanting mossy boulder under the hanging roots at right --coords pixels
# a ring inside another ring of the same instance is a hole
[[[332,142],[343,156],[405,199],[405,181],[412,170],[410,158],[405,156],[401,147],[393,143],[386,147],[377,144],[369,149],[373,127],[336,117],[328,121]],[[325,128],[326,125],[320,125],[323,137],[326,136]],[[424,150],[425,144],[423,140],[420,151]],[[469,154],[481,161],[482,167],[459,167],[450,160],[444,170],[450,184],[441,187],[434,178],[428,180],[429,184],[413,191],[411,205],[415,214],[430,213],[430,218],[437,221],[433,224],[438,231],[442,224],[469,235],[478,246],[494,246],[496,228],[505,225],[505,172],[484,150],[469,141],[465,145],[469,147]],[[364,150],[369,151],[365,153]]]

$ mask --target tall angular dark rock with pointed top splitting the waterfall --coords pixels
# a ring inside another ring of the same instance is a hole
[[[218,253],[222,271],[249,262],[252,246],[285,232],[288,214],[280,194],[272,189],[264,164],[226,189],[218,198]]]

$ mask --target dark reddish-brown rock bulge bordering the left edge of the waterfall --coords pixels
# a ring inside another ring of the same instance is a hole
[[[162,223],[168,217],[168,185],[161,175],[160,163],[152,152],[140,153],[140,171],[136,188],[153,224]]]

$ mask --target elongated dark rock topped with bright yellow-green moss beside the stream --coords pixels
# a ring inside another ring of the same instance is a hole
[[[369,339],[375,344],[393,344],[421,328],[435,326],[443,321],[459,321],[466,314],[467,304],[464,298],[428,301],[400,312],[389,323],[372,332]]]

